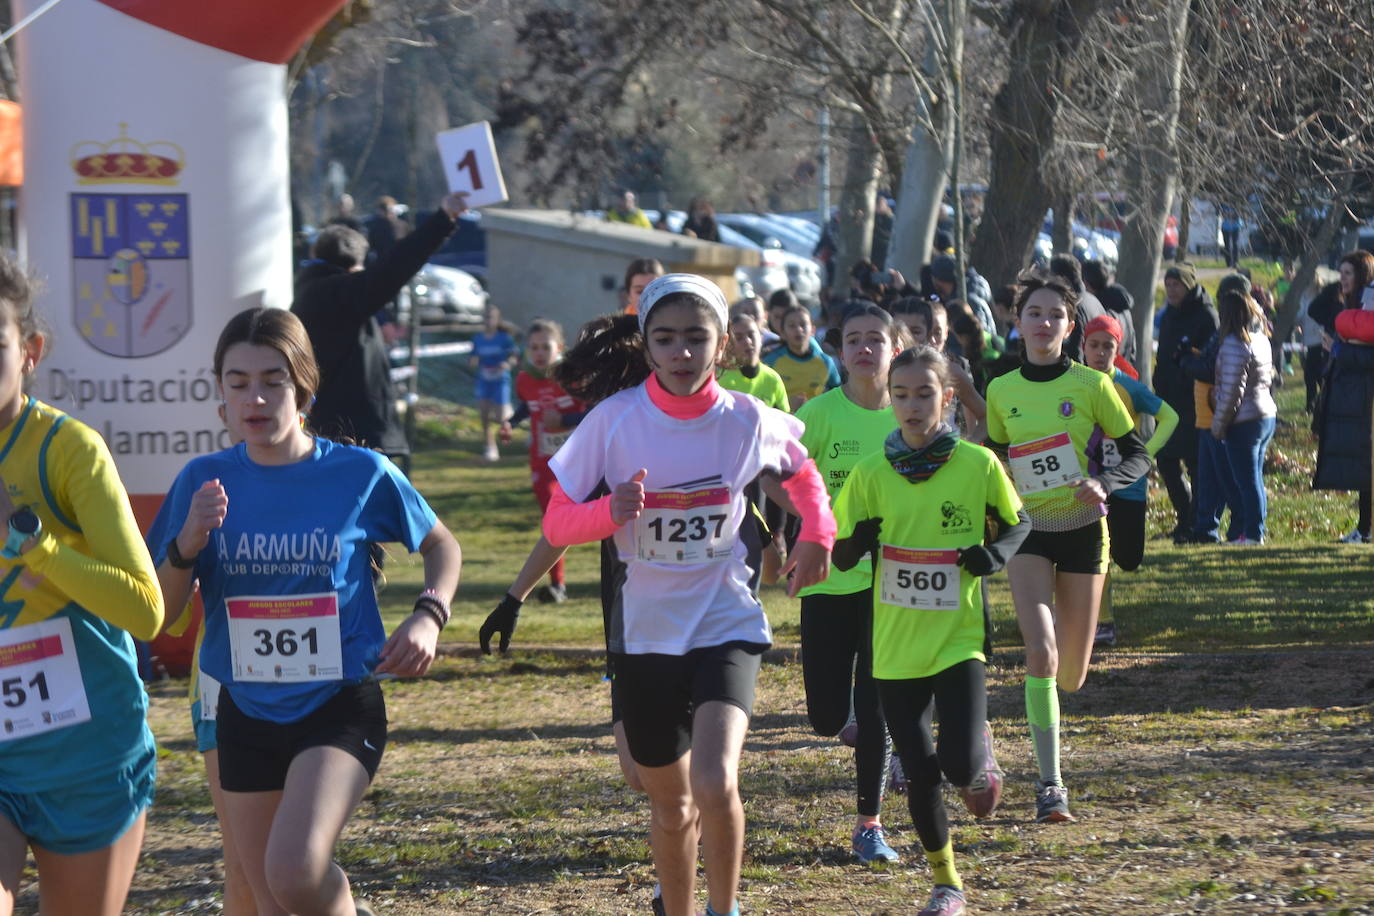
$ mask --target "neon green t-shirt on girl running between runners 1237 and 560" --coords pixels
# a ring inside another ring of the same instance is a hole
[[[801,444],[816,461],[826,493],[834,507],[849,470],[870,455],[882,455],[882,441],[897,428],[890,407],[870,411],[849,400],[844,389],[831,389],[797,409],[797,419],[807,424]],[[807,595],[853,595],[872,584],[872,564],[866,558],[849,571],[830,567],[824,582],[798,592]]]

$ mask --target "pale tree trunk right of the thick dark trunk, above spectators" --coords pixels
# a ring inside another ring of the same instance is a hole
[[[1153,55],[1142,69],[1140,96],[1149,118],[1131,150],[1127,168],[1127,195],[1131,214],[1121,231],[1117,282],[1135,299],[1135,365],[1140,378],[1150,378],[1154,357],[1154,287],[1164,255],[1164,229],[1178,183],[1176,139],[1179,126],[1179,88],[1183,80],[1183,52],[1189,27],[1189,0],[1156,0],[1167,5],[1169,56]]]

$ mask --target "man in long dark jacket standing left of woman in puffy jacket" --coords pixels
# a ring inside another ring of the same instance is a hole
[[[1156,456],[1160,477],[1169,492],[1178,523],[1173,540],[1184,544],[1193,531],[1193,485],[1198,474],[1197,411],[1193,407],[1193,379],[1182,360],[1201,350],[1216,334],[1219,321],[1212,297],[1198,283],[1191,264],[1179,262],[1164,272],[1165,310],[1160,320],[1160,347],[1151,378],[1154,393],[1179,415],[1179,426]],[[1187,468],[1187,479],[1183,470]]]

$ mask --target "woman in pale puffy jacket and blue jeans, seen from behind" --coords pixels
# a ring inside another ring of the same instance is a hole
[[[1243,293],[1226,293],[1217,302],[1221,346],[1216,354],[1216,408],[1212,435],[1226,446],[1226,457],[1235,481],[1237,500],[1231,512],[1239,514],[1239,537],[1231,544],[1264,541],[1264,452],[1274,438],[1278,408],[1270,385],[1274,380],[1274,357],[1264,316],[1259,305]]]

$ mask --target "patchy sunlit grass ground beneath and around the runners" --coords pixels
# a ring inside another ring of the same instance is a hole
[[[1153,540],[1145,567],[1117,577],[1118,648],[1063,698],[1073,825],[1030,823],[1020,640],[995,578],[989,718],[1007,788],[985,821],[948,797],[971,913],[1374,916],[1374,553],[1331,544],[1353,494],[1308,489],[1300,398],[1289,376],[1268,545]],[[429,411],[422,437],[415,479],[463,544],[463,585],[433,674],[386,684],[386,761],[339,860],[385,915],[649,913],[646,805],[620,776],[594,651],[596,551],[570,552],[572,600],[528,606],[510,656],[475,656],[477,628],[536,536],[523,452],[480,461],[462,411]],[[1172,527],[1160,490],[1150,527]],[[419,567],[394,556],[387,580],[390,625]],[[797,603],[769,589],[765,604],[779,645],[796,647]],[[852,751],[811,732],[787,655],[764,666],[741,775],[742,911],[914,913],[929,871],[903,798],[885,810],[903,861],[855,865]],[[218,912],[218,834],[185,684],[151,698],[159,787],[128,912]],[[18,912],[36,912],[32,884]]]

